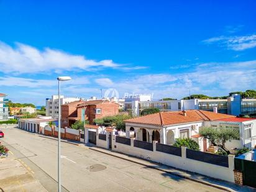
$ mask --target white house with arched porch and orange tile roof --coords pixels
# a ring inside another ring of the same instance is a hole
[[[199,135],[199,128],[211,127],[216,122],[230,118],[235,116],[202,110],[158,112],[127,119],[126,137],[145,142],[157,140],[167,145],[173,145],[178,138],[191,138],[198,142],[201,150],[206,151],[209,142]],[[134,131],[134,135],[130,135],[130,131]]]

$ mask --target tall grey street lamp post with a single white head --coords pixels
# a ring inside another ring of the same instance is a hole
[[[60,182],[60,117],[62,116],[60,110],[60,81],[71,80],[70,76],[58,76],[58,192],[62,191],[62,184]]]

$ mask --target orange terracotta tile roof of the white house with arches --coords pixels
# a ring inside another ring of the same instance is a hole
[[[201,110],[188,110],[185,111],[185,113],[186,116],[183,111],[158,112],[155,114],[149,114],[147,116],[127,119],[125,122],[149,124],[154,126],[168,126],[173,124],[182,124],[186,122],[214,121],[217,119],[234,117],[226,114]]]

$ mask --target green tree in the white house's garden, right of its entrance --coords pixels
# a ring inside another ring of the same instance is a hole
[[[221,147],[227,154],[229,150],[226,149],[226,142],[228,140],[239,139],[239,130],[226,129],[223,127],[201,127],[199,134],[204,138],[209,139],[214,146]]]

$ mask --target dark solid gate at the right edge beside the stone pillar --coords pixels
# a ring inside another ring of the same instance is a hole
[[[256,162],[235,158],[235,170],[242,171],[244,185],[256,188]]]

